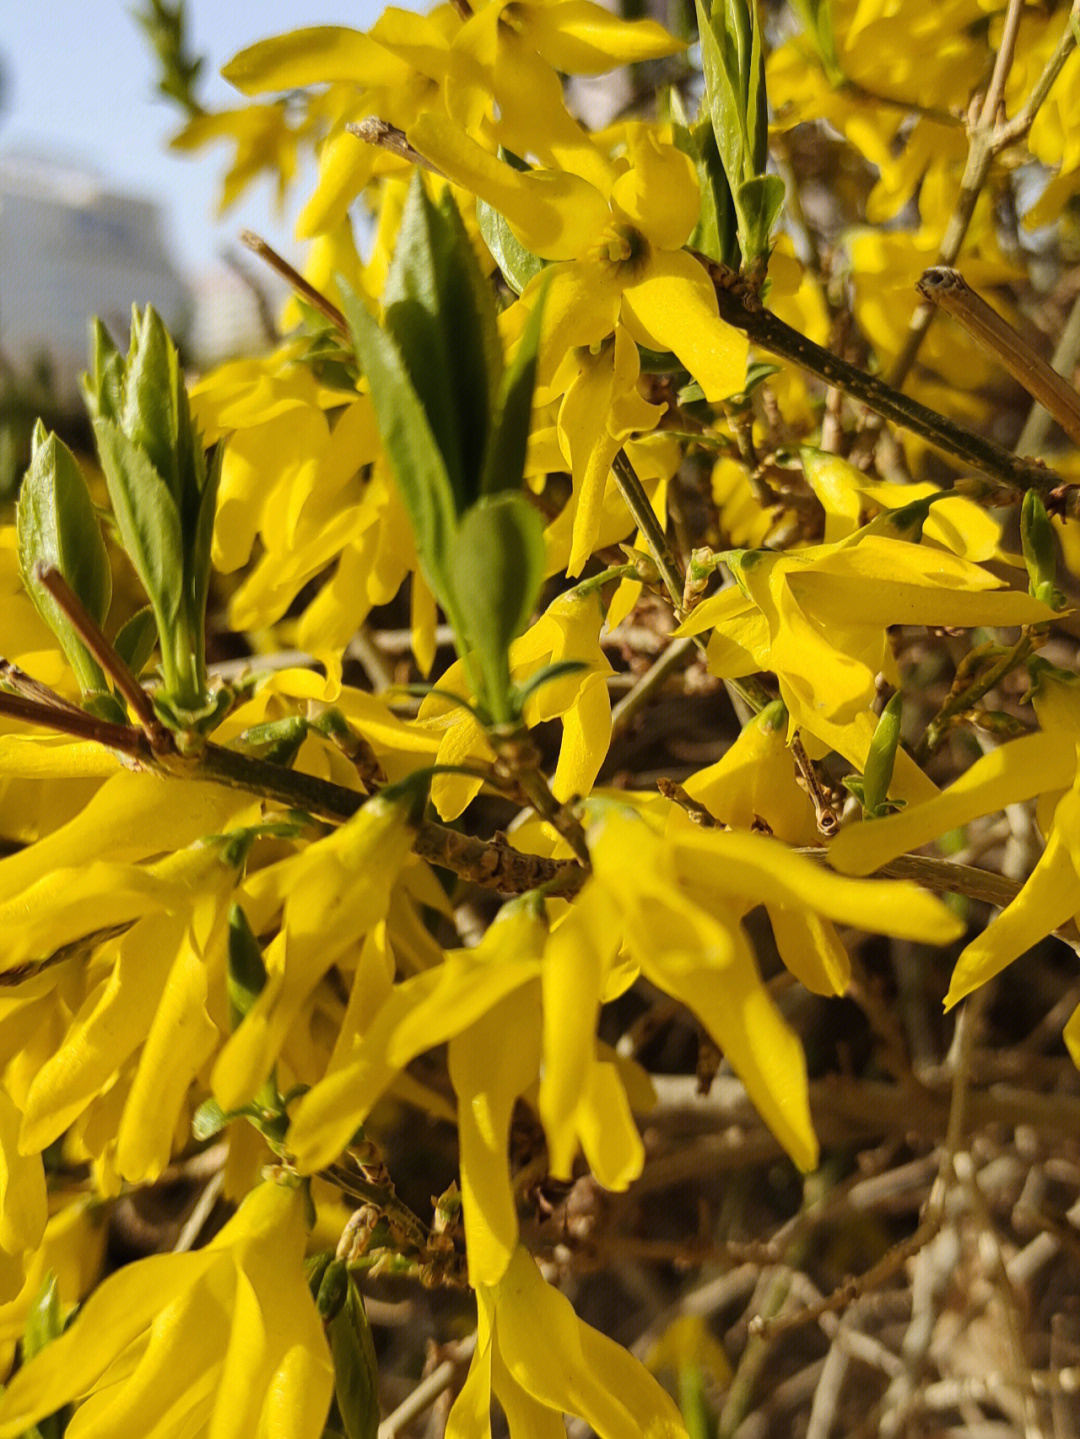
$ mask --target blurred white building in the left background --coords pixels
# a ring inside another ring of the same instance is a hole
[[[47,358],[58,400],[78,397],[88,321],[127,342],[131,307],[152,304],[183,335],[190,296],[157,204],[85,170],[0,157],[0,357],[9,374]]]

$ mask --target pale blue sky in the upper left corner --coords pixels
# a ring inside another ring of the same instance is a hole
[[[424,0],[413,4],[426,9]],[[4,0],[0,154],[76,161],[116,189],[157,199],[173,256],[188,273],[213,265],[244,227],[295,258],[288,212],[278,216],[269,187],[217,216],[224,145],[170,154],[178,111],[157,96],[154,58],[129,9],[128,0]],[[309,24],[367,29],[381,9],[377,0],[188,0],[193,45],[207,60],[203,104],[239,101],[217,71],[253,40]]]

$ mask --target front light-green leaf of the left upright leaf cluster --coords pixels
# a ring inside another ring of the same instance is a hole
[[[101,468],[116,528],[154,606],[163,655],[184,597],[184,545],[173,495],[144,450],[112,420],[95,420]]]

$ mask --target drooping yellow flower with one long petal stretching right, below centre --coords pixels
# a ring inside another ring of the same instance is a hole
[[[669,817],[676,813],[667,806]],[[685,820],[685,816],[683,816]],[[741,917],[810,911],[840,924],[945,943],[959,924],[913,885],[838,889],[836,876],[756,835],[669,825],[604,802],[587,827],[592,878],[552,935],[544,971],[539,1108],[552,1173],[568,1176],[577,1111],[604,984],[621,943],[641,974],[686,1004],[746,1085],[768,1127],[804,1170],[817,1163],[802,1049],[761,981]],[[830,957],[818,958],[828,987]],[[825,987],[825,986],[823,986]]]

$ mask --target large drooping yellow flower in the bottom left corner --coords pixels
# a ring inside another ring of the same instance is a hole
[[[114,1274],[7,1386],[0,1439],[69,1403],[83,1439],[318,1439],[332,1368],[305,1240],[302,1193],[260,1184],[206,1249]]]

